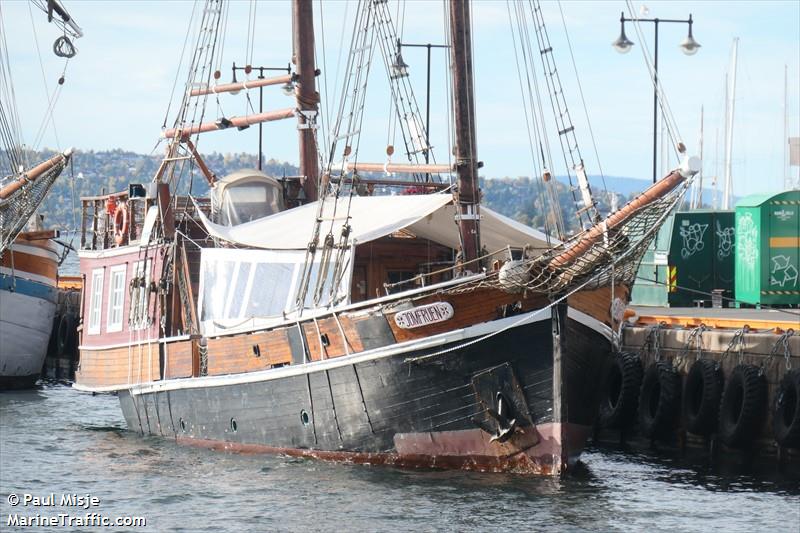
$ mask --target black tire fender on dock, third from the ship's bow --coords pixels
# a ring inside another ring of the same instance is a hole
[[[695,361],[683,384],[683,421],[687,431],[703,436],[716,433],[724,383],[719,363],[711,359]]]

